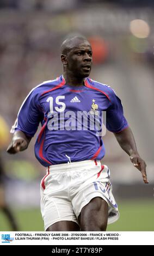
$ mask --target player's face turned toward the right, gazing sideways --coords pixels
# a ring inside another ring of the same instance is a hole
[[[76,44],[67,53],[67,70],[75,77],[88,77],[91,71],[92,50],[88,41]]]

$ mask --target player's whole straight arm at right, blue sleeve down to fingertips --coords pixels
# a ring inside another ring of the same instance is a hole
[[[120,147],[130,156],[131,162],[140,170],[143,181],[148,183],[146,163],[137,151],[133,133],[124,117],[121,100],[112,89],[109,90],[110,106],[107,109],[107,129],[114,133]]]

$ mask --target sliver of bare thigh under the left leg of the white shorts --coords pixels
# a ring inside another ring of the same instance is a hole
[[[79,231],[80,228],[73,221],[58,221],[46,229],[46,231]]]

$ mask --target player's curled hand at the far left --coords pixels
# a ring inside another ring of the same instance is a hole
[[[19,138],[15,138],[11,141],[11,143],[7,149],[7,152],[9,154],[16,154],[19,151],[23,151],[24,149],[27,149],[27,147],[28,147],[28,143],[27,143],[26,139],[19,137]]]

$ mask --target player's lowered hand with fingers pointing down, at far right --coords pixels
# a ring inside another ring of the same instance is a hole
[[[143,176],[143,181],[144,183],[149,183],[147,180],[147,175],[146,175],[146,163],[143,159],[141,159],[140,156],[138,155],[133,155],[130,157],[131,162],[133,163],[134,167],[136,167],[138,170],[140,170],[142,176]]]

